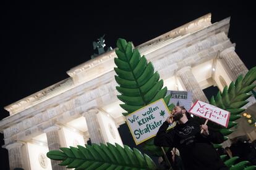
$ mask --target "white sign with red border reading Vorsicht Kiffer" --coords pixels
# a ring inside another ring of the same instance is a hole
[[[221,126],[228,127],[230,112],[197,100],[190,108],[189,113],[208,119]]]

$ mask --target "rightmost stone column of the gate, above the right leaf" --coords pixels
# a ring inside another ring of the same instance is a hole
[[[236,54],[234,47],[229,47],[228,49],[224,49],[224,51],[220,53],[220,57],[221,59],[224,60],[228,69],[233,74],[232,75],[233,81],[236,81],[239,75],[244,76],[248,72],[247,67],[244,65],[242,60]]]

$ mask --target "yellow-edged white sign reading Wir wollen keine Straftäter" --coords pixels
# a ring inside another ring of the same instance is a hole
[[[156,100],[126,116],[135,144],[138,145],[156,136],[159,127],[168,118],[169,110],[163,99]]]

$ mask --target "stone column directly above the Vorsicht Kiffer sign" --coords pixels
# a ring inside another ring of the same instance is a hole
[[[201,100],[202,102],[208,102],[207,97],[203,93],[201,87],[197,82],[197,79],[195,79],[195,76],[192,73],[191,67],[187,66],[181,68],[181,70],[177,71],[176,75],[178,78],[181,79],[187,91],[192,91],[193,103],[197,100]]]

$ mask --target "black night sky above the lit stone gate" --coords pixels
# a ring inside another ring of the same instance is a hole
[[[6,105],[68,78],[66,71],[90,60],[92,42],[103,34],[107,46],[116,47],[117,38],[139,46],[210,12],[212,23],[231,16],[228,36],[237,54],[247,68],[256,65],[252,4],[153,2],[2,4],[0,119],[9,115]],[[7,169],[7,150],[0,150],[1,169]]]

